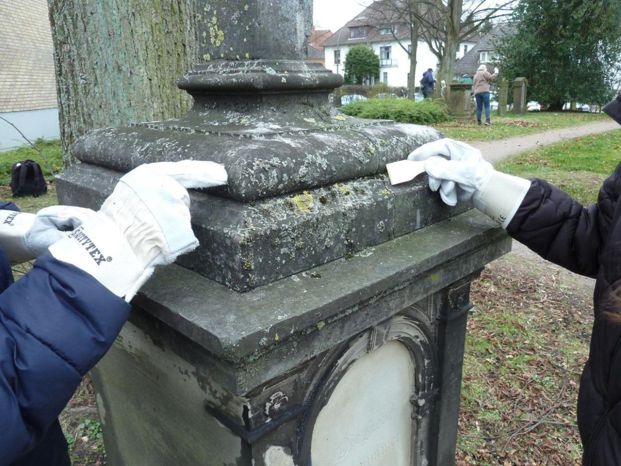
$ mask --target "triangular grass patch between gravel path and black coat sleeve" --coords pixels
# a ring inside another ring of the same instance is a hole
[[[543,178],[590,204],[620,160],[621,130],[615,130],[528,151],[497,163],[496,168],[523,178]]]

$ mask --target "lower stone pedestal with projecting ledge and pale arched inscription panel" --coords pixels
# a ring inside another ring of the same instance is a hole
[[[93,370],[109,462],[454,464],[469,282],[509,247],[471,211],[248,293],[160,271]]]

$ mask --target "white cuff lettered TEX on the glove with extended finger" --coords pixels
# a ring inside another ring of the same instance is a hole
[[[137,291],[137,283],[144,283],[145,268],[116,223],[102,212],[50,246],[50,253],[81,268],[115,295],[128,295],[126,301]]]

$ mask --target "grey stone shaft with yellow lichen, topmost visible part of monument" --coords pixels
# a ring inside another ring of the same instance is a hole
[[[203,60],[305,60],[312,0],[199,0]]]

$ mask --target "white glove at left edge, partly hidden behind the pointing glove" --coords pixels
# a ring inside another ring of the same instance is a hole
[[[0,246],[11,263],[32,260],[94,214],[91,209],[71,206],[51,206],[36,214],[2,210]]]

